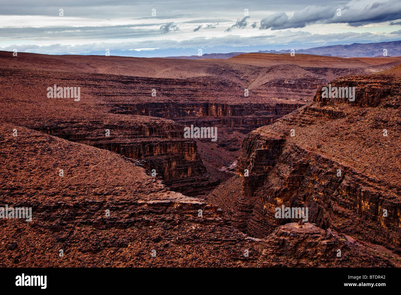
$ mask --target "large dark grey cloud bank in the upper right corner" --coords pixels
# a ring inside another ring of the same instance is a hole
[[[399,0],[351,0],[343,6],[307,6],[288,16],[276,12],[260,21],[260,29],[279,30],[303,28],[310,24],[346,23],[349,26],[363,26],[371,23],[397,20],[401,18]]]

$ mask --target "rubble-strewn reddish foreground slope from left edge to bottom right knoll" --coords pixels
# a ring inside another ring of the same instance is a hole
[[[0,155],[0,207],[32,208],[30,222],[0,218],[1,267],[397,265],[309,223],[251,238],[220,208],[170,191],[137,161],[43,132],[1,124]]]

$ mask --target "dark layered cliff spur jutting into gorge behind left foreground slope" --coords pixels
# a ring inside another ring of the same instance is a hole
[[[163,121],[161,121],[163,122]],[[196,142],[183,137],[183,126],[173,122],[104,122],[92,121],[90,125],[77,121],[63,125],[33,126],[33,129],[106,149],[125,157],[143,160],[142,165],[163,179],[165,184],[199,195],[213,185],[197,152]],[[130,124],[130,125],[128,125]],[[105,129],[102,129],[105,128]],[[109,136],[105,136],[105,130]]]

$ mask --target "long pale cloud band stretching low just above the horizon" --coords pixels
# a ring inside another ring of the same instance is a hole
[[[354,43],[366,41],[381,42],[389,41],[389,35],[387,34],[372,34],[368,32],[364,33],[338,33],[338,34],[311,34],[309,32],[292,32],[287,31],[276,31],[275,35],[258,35],[251,37],[241,37],[238,35],[226,35],[223,37],[195,37],[192,39],[185,39],[182,41],[170,40],[170,39],[157,39],[157,40],[146,40],[146,41],[132,41],[132,42],[116,42],[116,43],[88,43],[82,45],[61,45],[53,44],[49,46],[38,46],[38,45],[10,45],[7,47],[0,47],[0,50],[12,51],[14,48],[18,49],[18,52],[32,52],[32,53],[44,53],[44,54],[98,54],[102,55],[105,49],[110,49],[111,52],[117,52],[120,50],[130,50],[138,48],[168,48],[171,50],[182,49],[182,48],[194,48],[194,54],[197,53],[198,48],[219,48],[222,44],[229,44],[229,49],[225,52],[239,51],[236,47],[248,47],[249,44],[252,46],[261,46],[258,50],[265,50],[269,45],[281,44],[283,48],[299,48],[299,45],[306,46],[306,48],[313,46],[322,45],[334,45],[341,43]],[[304,47],[305,48],[305,47]],[[241,49],[242,51],[245,49]],[[155,50],[157,51],[157,50]],[[252,50],[247,50],[252,51]],[[130,51],[132,52],[132,51]],[[161,51],[160,51],[161,52]],[[216,51],[210,51],[216,52]],[[155,53],[157,54],[157,53]],[[169,56],[159,55],[154,56]],[[144,55],[145,56],[145,55]]]

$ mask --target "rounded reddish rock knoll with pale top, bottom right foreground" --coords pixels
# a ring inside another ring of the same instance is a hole
[[[263,242],[263,267],[389,266],[389,261],[377,259],[347,236],[339,236],[310,223],[299,225],[293,222],[279,226],[265,241],[269,243]],[[369,262],[364,262],[365,259]]]

